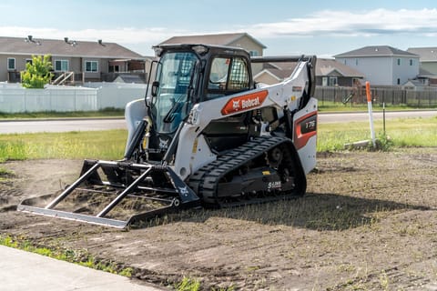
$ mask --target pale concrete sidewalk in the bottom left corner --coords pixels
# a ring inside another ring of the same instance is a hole
[[[8,291],[158,291],[125,276],[0,246],[0,290]]]

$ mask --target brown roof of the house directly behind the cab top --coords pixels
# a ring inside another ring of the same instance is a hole
[[[239,34],[217,34],[217,35],[185,35],[185,36],[173,36],[168,40],[160,43],[159,45],[169,44],[204,44],[204,45],[230,45],[238,41],[242,37],[249,37],[254,43],[266,48],[266,45],[262,45],[258,40],[253,38],[247,33]]]

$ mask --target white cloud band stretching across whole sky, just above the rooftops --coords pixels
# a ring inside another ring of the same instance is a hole
[[[228,32],[247,32],[256,38],[321,36],[420,35],[437,36],[437,9],[387,10],[363,12],[323,10],[311,15],[274,23],[228,26]],[[113,27],[108,29],[65,30],[55,27],[0,26],[0,35],[37,38],[97,41],[133,47],[138,53],[150,54],[151,45],[174,35],[224,33],[224,31],[188,31],[184,27]]]

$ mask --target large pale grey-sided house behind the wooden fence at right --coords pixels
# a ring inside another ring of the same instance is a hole
[[[371,85],[403,85],[419,75],[419,55],[389,45],[365,46],[334,57],[365,75]]]

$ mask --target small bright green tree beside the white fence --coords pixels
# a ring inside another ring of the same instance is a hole
[[[44,88],[53,77],[50,55],[32,55],[32,64],[25,64],[25,71],[21,72],[21,83],[25,88]]]

